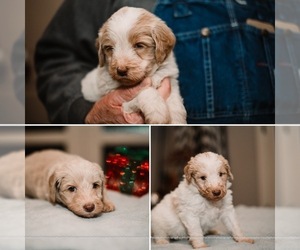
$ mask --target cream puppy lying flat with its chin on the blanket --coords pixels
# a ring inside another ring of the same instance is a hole
[[[115,209],[106,196],[100,166],[58,150],[33,153],[25,159],[25,194],[60,203],[81,217]]]

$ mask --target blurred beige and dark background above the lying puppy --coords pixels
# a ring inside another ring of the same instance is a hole
[[[111,148],[148,149],[148,130],[148,126],[27,126],[26,154],[61,149],[104,165]]]

